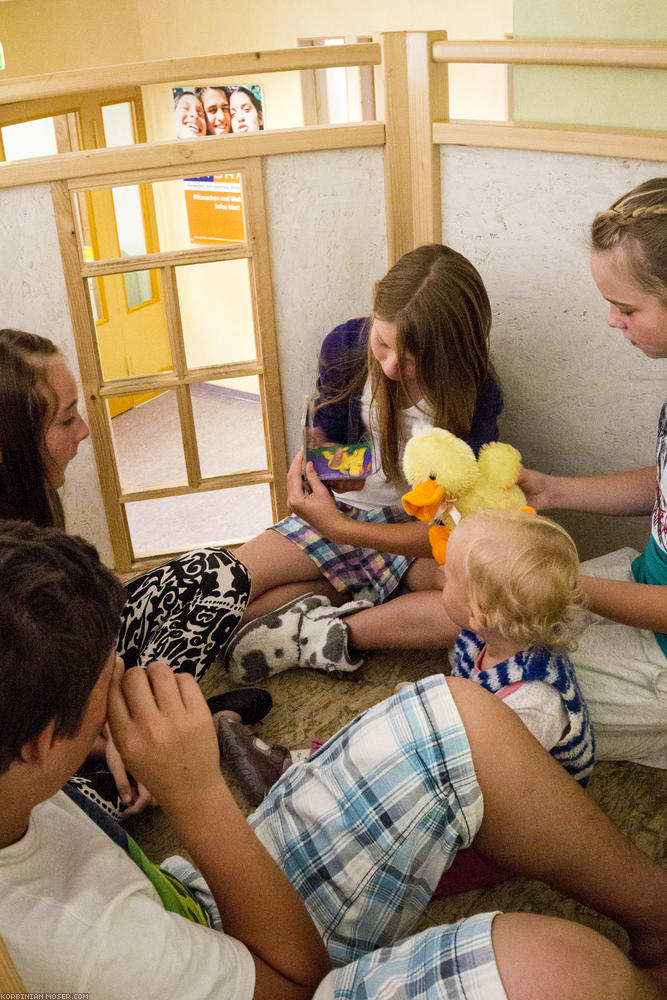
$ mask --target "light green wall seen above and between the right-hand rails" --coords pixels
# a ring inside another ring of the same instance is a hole
[[[514,37],[667,41],[667,0],[514,0]],[[667,129],[667,72],[517,67],[517,121]]]

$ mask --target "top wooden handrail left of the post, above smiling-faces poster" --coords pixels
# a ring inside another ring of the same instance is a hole
[[[241,52],[233,55],[153,59],[149,62],[117,63],[89,69],[40,73],[0,82],[0,104],[32,101],[63,94],[114,90],[119,85],[143,87],[152,83],[187,80],[217,81],[228,76],[254,76],[290,70],[326,69],[334,66],[379,66],[382,51],[377,42],[354,45],[312,45],[268,52]]]

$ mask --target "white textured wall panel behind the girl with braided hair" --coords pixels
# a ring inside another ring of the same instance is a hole
[[[624,191],[664,173],[631,160],[443,147],[443,239],[479,268],[505,390],[502,436],[526,465],[592,475],[655,460],[665,362],[607,326],[588,227]],[[644,518],[559,514],[583,555],[643,545]]]

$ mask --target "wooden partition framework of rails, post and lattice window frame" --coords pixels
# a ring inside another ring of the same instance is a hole
[[[79,97],[117,92],[123,81],[127,92],[159,82],[224,79],[239,74],[282,70],[314,70],[324,66],[371,66],[378,74],[381,120],[338,126],[311,126],[252,135],[207,137],[200,140],[141,142],[111,149],[85,149],[58,156],[0,164],[0,189],[51,185],[61,246],[62,263],[75,333],[102,496],[109,524],[114,560],[121,571],[139,566],[129,538],[125,505],[137,495],[124,492],[114,463],[105,401],[139,390],[173,389],[179,405],[187,467],[187,483],[143,491],[142,497],[185,495],[226,489],[246,483],[268,483],[276,517],[285,509],[285,435],[283,403],[271,286],[271,259],[264,218],[263,169],[271,157],[326,150],[382,148],[384,154],[385,213],[389,263],[424,242],[442,239],[441,146],[502,147],[507,149],[574,152],[596,156],[667,160],[667,135],[631,130],[603,130],[512,123],[473,123],[449,120],[447,73],[454,62],[540,63],[667,68],[667,46],[448,42],[443,32],[392,32],[379,41],[335,47],[312,47],[266,53],[221,55],[199,59],[161,60],[123,66],[49,74],[0,83],[0,125],[49,113],[40,96],[48,83],[50,101],[59,95]],[[129,90],[128,90],[129,88]],[[242,248],[202,249],[153,253],[122,260],[90,263],[76,240],[77,192],[124,184],[148,183],[193,174],[236,170],[246,178],[247,239]],[[446,192],[444,197],[446,203]],[[253,275],[253,302],[259,331],[259,351],[253,363],[220,369],[188,368],[179,335],[173,272],[191,260],[243,256]],[[105,379],[94,336],[94,320],[86,282],[97,275],[155,268],[165,288],[169,337],[174,371],[140,379]],[[192,429],[189,386],[230,375],[256,375],[260,380],[267,439],[267,467],[252,473],[203,477]],[[283,381],[289,373],[283,373]]]

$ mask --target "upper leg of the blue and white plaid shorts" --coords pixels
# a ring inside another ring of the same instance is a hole
[[[402,688],[294,764],[249,822],[334,964],[346,965],[409,933],[482,813],[468,739],[438,675]]]

